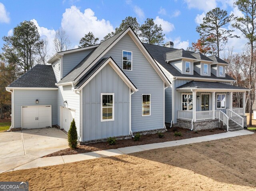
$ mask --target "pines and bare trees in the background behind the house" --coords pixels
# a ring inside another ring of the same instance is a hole
[[[233,35],[234,30],[226,29],[232,26],[242,32],[248,40],[242,53],[233,53],[233,49],[224,51],[222,58],[230,63],[227,73],[236,79],[236,85],[252,89],[246,94],[247,111],[250,112],[252,123],[252,102],[256,98],[256,52],[254,42],[256,40],[256,0],[237,0],[234,5],[242,12],[242,17],[228,15],[226,10],[214,8],[203,18],[202,24],[196,27],[200,38],[192,43],[187,50],[201,52],[204,55],[220,56],[229,38],[240,38]],[[144,43],[163,45],[164,34],[161,25],[154,23],[152,18],[147,18],[144,24],[140,25],[136,18],[126,17],[114,32],[108,33],[100,41],[126,29],[128,26],[134,30],[136,35]],[[48,39],[40,39],[38,29],[33,22],[24,21],[16,26],[12,36],[4,36],[3,53],[0,54],[0,104],[10,102],[10,94],[6,93],[5,87],[14,79],[31,69],[36,63],[46,64],[50,55],[48,54]],[[71,43],[66,32],[60,28],[54,37],[54,51],[60,52],[71,48]],[[92,32],[86,33],[80,39],[78,47],[86,47],[99,43],[99,38]],[[6,78],[6,79],[5,79]],[[3,80],[4,79],[4,80]],[[2,96],[3,95],[3,96]],[[242,105],[240,93],[234,95],[236,106]]]

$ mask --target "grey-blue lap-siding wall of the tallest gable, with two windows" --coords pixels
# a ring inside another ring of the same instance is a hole
[[[164,82],[128,34],[104,55],[122,69],[122,50],[132,51],[132,71],[124,73],[139,90],[132,95],[132,131],[164,127]],[[142,94],[151,94],[151,116],[142,116]]]

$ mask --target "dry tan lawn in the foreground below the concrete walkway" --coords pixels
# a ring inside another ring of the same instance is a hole
[[[48,191],[255,191],[256,134],[0,174]]]

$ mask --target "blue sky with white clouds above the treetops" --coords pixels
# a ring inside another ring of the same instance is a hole
[[[232,5],[233,0],[0,0],[0,47],[2,37],[12,35],[12,29],[24,20],[32,20],[40,35],[48,38],[51,52],[54,33],[60,27],[68,33],[74,48],[85,33],[93,32],[102,39],[124,18],[132,16],[140,24],[153,18],[156,24],[162,24],[165,41],[186,49],[198,39],[196,26],[206,12],[220,7],[239,16]],[[240,35],[237,30],[234,33]],[[234,46],[239,52],[245,43],[244,38],[230,39],[226,49]]]

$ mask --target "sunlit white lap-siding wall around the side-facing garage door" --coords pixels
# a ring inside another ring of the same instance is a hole
[[[79,95],[75,94],[72,90],[71,85],[60,86],[58,89],[58,125],[60,126],[60,107],[64,106],[64,101],[66,100],[68,103],[65,107],[75,110],[76,112],[76,129],[78,134],[80,133],[80,110],[79,110]],[[60,127],[62,128],[62,127]]]

